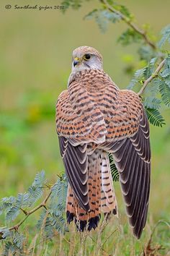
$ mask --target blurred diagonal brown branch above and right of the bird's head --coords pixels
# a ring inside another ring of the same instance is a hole
[[[148,35],[146,35],[146,31],[142,30],[140,27],[138,27],[135,23],[131,22],[128,17],[126,17],[122,12],[117,11],[117,9],[110,7],[107,4],[107,1],[105,0],[99,0],[104,4],[104,7],[109,9],[110,12],[114,12],[115,14],[119,15],[123,21],[125,21],[126,24],[128,24],[130,27],[135,30],[138,34],[142,35],[143,39],[146,41],[146,43],[153,48],[153,50],[156,50],[156,45],[148,38]]]

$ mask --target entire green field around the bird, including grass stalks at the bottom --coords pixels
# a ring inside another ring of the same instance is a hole
[[[60,1],[58,1],[59,4]],[[25,1],[19,1],[24,4]],[[50,4],[55,1],[51,0]],[[66,88],[71,66],[71,51],[80,45],[94,46],[104,56],[104,70],[125,88],[130,76],[125,74],[126,61],[137,63],[136,46],[117,45],[117,36],[125,29],[121,23],[112,25],[102,35],[94,21],[82,17],[91,11],[97,1],[84,4],[79,12],[19,12],[5,10],[1,1],[0,41],[0,197],[23,192],[37,171],[45,169],[50,183],[58,179],[63,163],[55,132],[55,101]],[[47,4],[41,1],[41,4]],[[55,3],[56,4],[56,3]],[[169,22],[169,2],[122,1],[140,23],[151,22],[158,33]],[[152,14],[151,14],[152,9]],[[161,13],[160,13],[161,9]],[[145,15],[144,15],[145,14]],[[158,17],[161,16],[161,19]],[[68,22],[69,20],[69,22]],[[151,126],[152,174],[148,222],[142,238],[136,240],[128,226],[119,184],[115,184],[120,219],[111,218],[102,229],[80,235],[69,226],[64,236],[56,234],[53,241],[44,241],[42,231],[35,229],[38,213],[30,216],[22,229],[26,230],[30,251],[25,255],[142,255],[152,236],[153,255],[170,254],[169,222],[169,151],[170,115],[163,128]],[[4,226],[4,218],[0,218]],[[102,222],[100,223],[102,225]],[[158,249],[162,246],[161,249]],[[3,242],[1,242],[1,249]],[[0,249],[0,250],[1,250]],[[149,246],[148,246],[149,249]],[[148,252],[147,252],[148,253]]]

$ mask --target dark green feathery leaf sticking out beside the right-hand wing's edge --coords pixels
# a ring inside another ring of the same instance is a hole
[[[161,116],[159,111],[157,109],[153,108],[145,108],[146,114],[148,116],[148,121],[150,121],[151,124],[162,127],[165,124],[164,118]]]

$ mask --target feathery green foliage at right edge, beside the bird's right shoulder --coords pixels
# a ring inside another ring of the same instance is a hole
[[[131,90],[137,85],[143,86],[144,82],[153,76],[153,72],[157,67],[158,58],[155,57],[151,59],[146,67],[143,69],[138,69],[130,84],[128,89]],[[165,59],[164,68],[160,74],[156,74],[153,77],[153,82],[150,82],[146,88],[146,92],[143,97],[143,105],[146,107],[146,113],[148,114],[148,120],[151,124],[158,127],[162,127],[165,124],[164,118],[159,113],[158,109],[161,108],[163,104],[170,106],[170,69],[169,69],[169,55]]]

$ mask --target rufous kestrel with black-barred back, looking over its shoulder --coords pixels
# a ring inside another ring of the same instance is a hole
[[[79,231],[118,216],[109,166],[112,154],[133,235],[140,239],[148,214],[151,180],[149,124],[140,96],[120,90],[103,70],[95,48],[73,51],[66,90],[56,103],[56,130],[68,178],[66,218]]]

